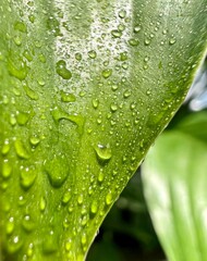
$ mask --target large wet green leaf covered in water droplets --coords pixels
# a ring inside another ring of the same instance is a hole
[[[84,260],[185,97],[206,10],[206,0],[1,0],[3,260]]]

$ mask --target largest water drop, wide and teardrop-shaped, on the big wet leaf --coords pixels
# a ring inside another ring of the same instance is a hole
[[[63,153],[53,154],[45,162],[45,170],[52,187],[61,187],[69,176],[69,163]]]

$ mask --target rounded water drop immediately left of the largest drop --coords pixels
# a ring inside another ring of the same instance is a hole
[[[28,189],[35,182],[37,172],[34,166],[21,170],[21,185],[24,189]]]

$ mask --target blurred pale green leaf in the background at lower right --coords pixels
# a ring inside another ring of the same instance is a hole
[[[207,146],[180,132],[161,135],[143,165],[149,212],[170,261],[207,259]]]

